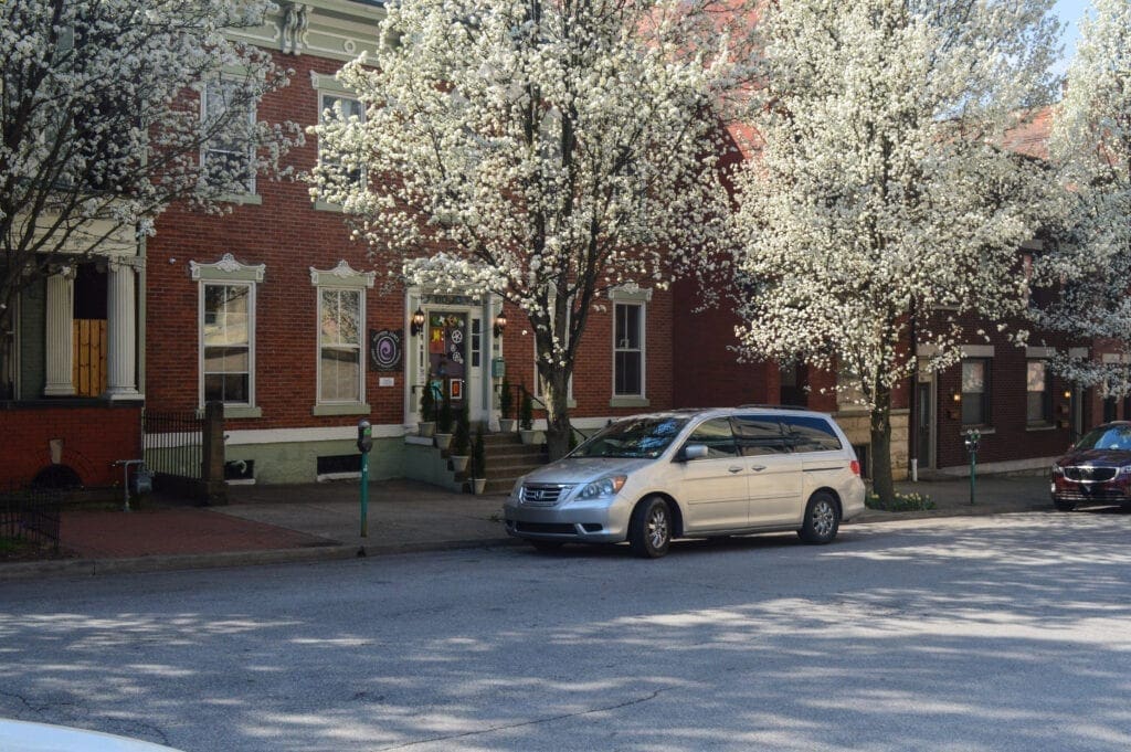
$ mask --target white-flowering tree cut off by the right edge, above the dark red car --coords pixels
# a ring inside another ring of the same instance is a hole
[[[1098,340],[1123,357],[1115,363],[1059,354],[1053,368],[1108,395],[1131,392],[1131,5],[1096,0],[1081,25],[1056,107],[1050,156],[1062,171],[1063,215],[1055,251],[1037,259],[1037,284],[1059,289],[1034,306],[1037,325]],[[1122,361],[1122,362],[1119,362]]]

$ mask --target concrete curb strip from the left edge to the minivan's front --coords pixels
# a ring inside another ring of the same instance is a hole
[[[55,559],[0,564],[0,582],[29,580],[41,577],[96,577],[98,574],[223,569],[227,567],[254,567],[260,564],[300,564],[365,556],[425,553],[430,551],[487,548],[492,546],[518,545],[519,543],[519,541],[508,537],[363,546],[339,544],[307,548],[225,551],[208,554],[166,554],[158,556],[136,556],[131,559]]]

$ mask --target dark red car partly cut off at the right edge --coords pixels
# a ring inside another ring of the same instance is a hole
[[[1089,431],[1053,465],[1050,489],[1062,512],[1087,504],[1131,504],[1131,422]]]

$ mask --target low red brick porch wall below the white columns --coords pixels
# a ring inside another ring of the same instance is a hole
[[[0,483],[24,484],[51,465],[51,440],[62,439],[61,464],[85,486],[121,483],[119,459],[141,456],[141,408],[135,406],[0,407]]]

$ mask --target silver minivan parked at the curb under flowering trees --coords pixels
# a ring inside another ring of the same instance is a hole
[[[860,463],[840,426],[760,406],[620,420],[519,478],[503,504],[507,533],[539,550],[628,541],[648,557],[672,538],[796,530],[829,543],[863,511]]]

